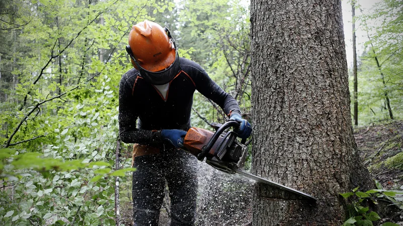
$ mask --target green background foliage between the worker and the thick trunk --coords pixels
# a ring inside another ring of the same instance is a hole
[[[242,1],[182,1],[178,4],[177,42],[189,49],[192,60],[206,69],[241,106],[249,121],[249,11]],[[186,56],[187,57],[187,56]],[[228,118],[218,106],[196,93],[192,125],[209,128],[209,123],[224,123]]]

